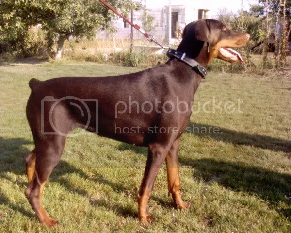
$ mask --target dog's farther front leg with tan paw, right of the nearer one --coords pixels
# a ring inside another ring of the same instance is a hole
[[[174,203],[178,209],[186,209],[191,206],[190,203],[184,202],[180,194],[180,175],[178,165],[179,140],[175,141],[166,157],[168,190],[172,194]]]

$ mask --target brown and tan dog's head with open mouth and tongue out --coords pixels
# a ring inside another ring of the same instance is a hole
[[[188,43],[191,40],[208,43],[208,64],[213,58],[230,63],[243,62],[241,54],[232,48],[246,45],[249,39],[249,34],[231,31],[222,22],[213,19],[194,21],[183,32],[183,40]]]

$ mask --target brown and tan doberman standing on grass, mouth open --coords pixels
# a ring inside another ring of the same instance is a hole
[[[249,38],[249,34],[230,31],[217,20],[200,20],[186,26],[177,51],[202,67],[213,58],[242,62],[242,56],[231,47],[244,46]],[[179,138],[188,125],[201,80],[201,73],[176,57],[164,65],[121,76],[63,77],[43,82],[32,79],[26,114],[35,149],[25,157],[29,181],[25,195],[39,221],[48,227],[57,224],[43,208],[41,197],[60,161],[67,136],[76,128],[148,147],[137,195],[141,221],[153,221],[147,204],[164,160],[169,193],[177,208],[188,208],[190,204],[180,194]]]

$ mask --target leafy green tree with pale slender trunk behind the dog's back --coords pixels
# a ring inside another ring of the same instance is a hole
[[[38,2],[43,10],[39,16],[43,29],[50,32],[50,36],[58,37],[56,60],[62,58],[66,39],[71,36],[90,37],[98,28],[109,26],[111,20],[116,17],[97,0],[38,0]],[[108,3],[123,12],[129,12],[137,7],[137,4],[130,0],[109,0]]]

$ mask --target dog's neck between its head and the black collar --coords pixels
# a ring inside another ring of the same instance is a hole
[[[194,59],[201,66],[207,67],[209,60],[208,43],[185,38],[181,41],[177,50],[186,53],[187,57]]]

